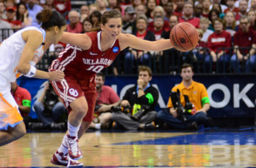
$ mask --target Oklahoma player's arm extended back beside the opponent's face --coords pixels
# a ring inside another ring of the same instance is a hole
[[[91,48],[92,40],[86,34],[64,32],[60,40],[62,43],[76,45],[83,50]]]

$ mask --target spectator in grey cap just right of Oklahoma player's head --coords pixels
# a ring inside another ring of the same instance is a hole
[[[136,30],[135,10],[133,7],[127,7],[124,11],[122,32],[132,34]]]

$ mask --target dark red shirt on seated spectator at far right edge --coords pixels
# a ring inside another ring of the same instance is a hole
[[[233,36],[234,45],[240,47],[251,47],[253,44],[256,44],[256,32],[249,29],[248,32],[242,32],[239,27],[239,30]],[[249,50],[239,50],[241,54],[248,54]]]

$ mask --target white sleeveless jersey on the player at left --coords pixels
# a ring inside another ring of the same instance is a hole
[[[8,82],[14,82],[16,78],[21,76],[21,73],[18,73],[16,69],[20,61],[21,53],[23,52],[23,48],[26,44],[21,34],[27,30],[37,30],[43,35],[42,45],[39,46],[35,51],[34,57],[30,64],[35,66],[38,59],[43,56],[46,31],[41,28],[31,26],[15,32],[15,34],[11,35],[0,44],[0,82],[3,80],[3,78],[8,80]]]

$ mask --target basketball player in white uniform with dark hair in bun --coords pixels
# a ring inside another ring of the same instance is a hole
[[[42,28],[26,27],[0,44],[0,146],[21,138],[26,133],[18,105],[11,95],[10,82],[24,75],[61,81],[61,71],[44,72],[34,66],[51,44],[56,44],[66,29],[59,12],[43,10],[37,14]]]

